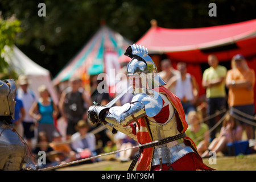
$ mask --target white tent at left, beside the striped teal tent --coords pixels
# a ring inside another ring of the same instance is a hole
[[[36,98],[39,98],[38,86],[46,85],[53,102],[58,103],[59,99],[53,88],[50,72],[47,69],[36,64],[16,46],[13,47],[13,53],[7,62],[18,75],[27,75],[30,81],[30,89],[34,92]]]

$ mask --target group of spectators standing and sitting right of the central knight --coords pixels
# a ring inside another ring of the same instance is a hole
[[[199,83],[187,73],[185,63],[177,63],[180,75],[167,81],[166,87],[180,98],[187,115],[189,127],[186,133],[195,141],[203,158],[209,157],[209,151],[228,154],[227,144],[241,141],[243,129],[247,140],[255,139],[255,73],[241,54],[235,55],[231,63],[232,69],[228,71],[218,63],[215,55],[208,56],[209,68],[205,69],[201,82],[206,90],[205,114],[195,104]],[[170,64],[170,72],[173,69]],[[217,111],[220,114],[216,114]],[[208,119],[203,121],[203,115]],[[218,127],[221,122],[217,121],[221,119],[222,126]]]

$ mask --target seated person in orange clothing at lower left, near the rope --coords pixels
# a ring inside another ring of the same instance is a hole
[[[69,144],[63,143],[61,135],[58,131],[53,131],[52,142],[49,144],[55,151],[59,151],[57,155],[61,164],[69,163],[76,160],[76,152],[71,149]]]

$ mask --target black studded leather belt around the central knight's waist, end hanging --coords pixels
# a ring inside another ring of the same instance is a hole
[[[131,162],[130,164],[130,167],[128,169],[128,171],[133,171],[138,159],[139,159],[139,156],[141,156],[141,153],[143,151],[143,148],[149,148],[149,147],[155,147],[155,146],[159,146],[161,144],[165,144],[165,143],[169,143],[169,142],[173,142],[175,140],[178,140],[178,139],[181,139],[181,138],[184,138],[186,137],[187,135],[185,133],[181,133],[181,134],[178,134],[178,135],[175,135],[173,137],[167,137],[167,138],[164,138],[162,140],[158,140],[158,141],[154,141],[154,143],[148,143],[142,147],[139,147],[139,152],[138,154],[134,157],[133,161]]]

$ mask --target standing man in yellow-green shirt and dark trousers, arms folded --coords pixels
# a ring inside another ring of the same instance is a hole
[[[208,56],[210,68],[203,73],[202,85],[206,89],[207,116],[214,114],[217,110],[226,108],[225,78],[226,68],[218,65],[218,58],[215,55]],[[223,116],[222,114],[221,116]],[[209,119],[208,126],[211,129],[216,124],[216,117]],[[216,129],[210,133],[210,141],[215,138]]]

